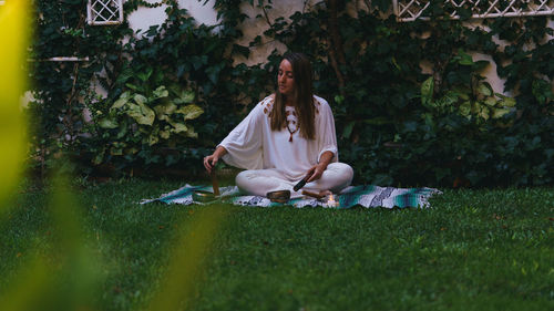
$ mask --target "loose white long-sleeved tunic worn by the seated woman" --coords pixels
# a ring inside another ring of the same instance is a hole
[[[301,179],[310,167],[318,164],[324,152],[334,153],[331,162],[338,162],[331,107],[326,100],[314,99],[315,139],[304,138],[297,131],[289,142],[290,133],[286,127],[271,131],[269,113],[274,99],[267,96],[219,144],[227,151],[223,160],[244,169],[276,168],[289,180]]]

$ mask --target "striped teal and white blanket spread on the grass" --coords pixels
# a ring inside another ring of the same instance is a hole
[[[193,191],[195,190],[207,190],[213,191],[212,186],[192,186],[185,185],[174,191],[164,194],[158,198],[144,199],[141,204],[148,204],[154,201],[161,201],[165,204],[201,204],[193,200]],[[291,199],[287,204],[271,203],[266,197],[259,196],[245,196],[242,195],[237,186],[228,186],[219,188],[220,196],[216,201],[229,203],[234,205],[245,205],[245,206],[284,206],[291,205],[297,208],[301,207],[327,207],[325,201],[311,198],[301,197]],[[427,208],[429,206],[429,198],[433,195],[442,194],[438,189],[433,188],[393,188],[393,187],[379,187],[379,186],[350,186],[338,194],[335,199],[339,201],[338,207],[334,208],[350,208],[357,205],[363,207],[386,207],[386,208],[406,208],[406,207],[421,207]],[[215,201],[211,201],[213,204]]]

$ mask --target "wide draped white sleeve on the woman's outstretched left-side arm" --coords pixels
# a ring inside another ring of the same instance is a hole
[[[222,141],[227,154],[222,158],[228,164],[244,169],[261,169],[263,159],[263,103],[257,104],[250,113]]]

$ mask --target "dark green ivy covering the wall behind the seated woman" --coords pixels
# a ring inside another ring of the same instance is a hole
[[[438,1],[430,9],[435,19],[399,23],[382,13],[390,1],[365,1],[369,10],[356,14],[348,2],[321,1],[288,19],[267,19],[269,29],[242,46],[236,42],[247,17],[240,4],[270,13],[277,3],[216,0],[220,23],[208,27],[196,24],[177,1],[126,1],[125,14],[167,6],[167,20],[135,38],[126,23],[86,25],[86,1],[35,1],[33,58],[90,58],[86,63],[34,62],[37,163],[48,164],[48,153],[63,151],[89,169],[167,165],[198,172],[199,158],[248,112],[243,103],[254,104],[273,91],[280,61],[276,51],[263,65],[232,63],[234,55],[247,58],[266,37],[312,59],[316,90],[336,116],[340,158],[355,167],[357,183],[552,183],[548,17],[483,20],[475,28],[442,18]],[[266,20],[266,14],[258,18]],[[515,99],[494,94],[482,76],[489,63],[473,61],[470,52],[494,59],[506,80],[504,91]],[[423,73],[422,63],[432,74]],[[91,92],[91,81],[107,91],[106,99]],[[148,110],[130,114],[140,106],[136,101],[113,108],[130,94],[151,99],[144,102],[155,115],[151,125],[137,121]],[[184,110],[176,112],[191,104],[202,114],[187,118]],[[92,124],[83,122],[84,107]],[[182,125],[175,125],[177,118]]]

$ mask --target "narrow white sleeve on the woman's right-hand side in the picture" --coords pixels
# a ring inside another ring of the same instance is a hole
[[[332,162],[339,160],[339,153],[337,148],[337,133],[335,131],[335,118],[332,117],[332,111],[326,100],[317,97],[318,103],[316,103],[316,111],[318,111],[317,117],[317,141],[319,147],[319,154],[317,156],[317,162],[321,158],[325,152],[331,152],[335,156]]]

